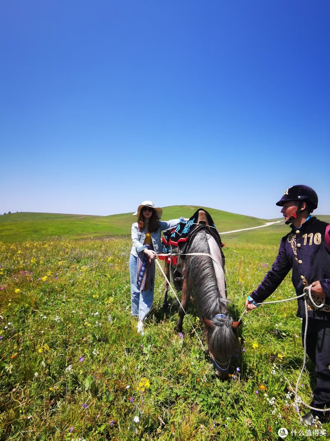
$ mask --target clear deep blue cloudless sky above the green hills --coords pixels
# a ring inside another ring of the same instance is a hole
[[[330,3],[0,5],[0,213],[330,214]]]

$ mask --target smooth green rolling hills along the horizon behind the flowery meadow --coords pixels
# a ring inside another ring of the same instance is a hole
[[[169,206],[163,209],[163,220],[177,217],[191,217],[198,206]],[[264,225],[267,220],[227,211],[207,208],[219,232]],[[330,222],[330,216],[319,216]],[[84,239],[130,235],[132,223],[136,217],[132,213],[113,214],[110,216],[88,216],[58,213],[11,213],[0,216],[0,241],[24,242],[26,240],[49,240],[59,238]],[[244,241],[250,243],[278,243],[286,234],[288,227],[273,224],[265,228],[226,234],[224,242]]]

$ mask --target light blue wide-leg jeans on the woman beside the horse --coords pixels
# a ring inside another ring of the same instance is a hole
[[[146,289],[140,292],[136,284],[136,266],[137,257],[133,254],[129,256],[129,276],[131,279],[131,314],[139,316],[139,320],[144,320],[148,312],[150,311],[152,301],[154,300],[154,287],[155,287],[155,262],[151,261],[151,270],[153,274],[153,281],[151,289]]]

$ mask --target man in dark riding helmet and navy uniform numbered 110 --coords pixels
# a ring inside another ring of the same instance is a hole
[[[315,364],[316,387],[313,391],[312,407],[330,407],[330,251],[326,245],[329,224],[312,217],[317,208],[318,197],[311,187],[294,185],[288,188],[277,206],[285,223],[291,224],[291,232],[282,237],[279,254],[258,288],[246,299],[248,310],[256,308],[282,282],[292,268],[292,283],[297,296],[303,294],[304,287],[312,285],[311,293],[316,308],[307,297],[308,329],[306,352]],[[304,299],[298,299],[297,316],[302,318],[305,329]],[[304,342],[304,340],[303,340]],[[306,424],[312,424],[318,416],[321,422],[330,418],[330,412],[309,411],[303,416]]]

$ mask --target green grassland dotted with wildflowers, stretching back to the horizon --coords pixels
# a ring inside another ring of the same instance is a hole
[[[163,219],[197,207],[166,207]],[[219,232],[266,220],[208,209]],[[318,216],[330,221],[330,216]],[[0,440],[329,439],[330,424],[299,422],[293,389],[303,363],[297,301],[261,306],[238,331],[229,381],[214,375],[179,304],[162,310],[164,280],[144,336],[130,315],[132,213],[0,217]],[[224,234],[230,309],[237,320],[289,227]],[[180,293],[179,293],[180,295]],[[268,300],[292,297],[290,275]],[[189,303],[188,317],[202,337]],[[311,401],[308,361],[299,396]],[[300,405],[302,413],[308,409]],[[296,431],[291,436],[291,430]]]

